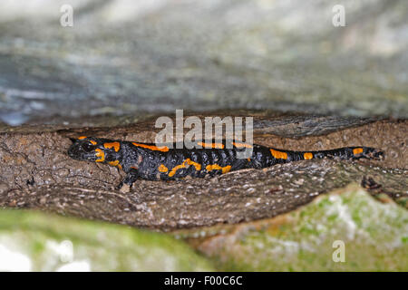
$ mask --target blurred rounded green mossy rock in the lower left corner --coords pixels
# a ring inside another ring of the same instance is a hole
[[[73,263],[94,271],[212,270],[203,257],[164,234],[31,211],[0,211],[0,247],[10,260],[24,256],[34,271]]]

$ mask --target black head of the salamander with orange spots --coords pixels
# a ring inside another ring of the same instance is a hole
[[[119,142],[83,136],[73,140],[73,145],[68,149],[68,155],[74,160],[109,162],[118,160],[120,146]]]

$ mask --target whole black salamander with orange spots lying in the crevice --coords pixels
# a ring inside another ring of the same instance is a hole
[[[227,149],[222,143],[198,143],[201,149],[173,149],[154,144],[80,137],[73,140],[68,155],[75,160],[105,162],[123,169],[127,176],[121,181],[131,187],[136,179],[173,180],[185,177],[203,178],[238,169],[263,169],[277,163],[296,160],[379,158],[380,150],[369,147],[346,147],[322,151],[290,151],[267,148],[260,145],[232,142]],[[175,145],[175,144],[174,144]],[[252,148],[248,159],[238,159],[237,153],[245,147]]]

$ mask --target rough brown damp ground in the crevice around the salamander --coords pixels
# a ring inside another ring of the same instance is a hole
[[[216,115],[227,113],[248,116],[248,111],[218,111]],[[73,123],[5,126],[0,133],[0,207],[36,208],[172,230],[272,218],[355,181],[373,195],[408,196],[408,121],[271,111],[250,114],[257,144],[286,150],[369,146],[384,150],[384,160],[305,160],[213,179],[138,180],[130,193],[121,193],[115,186],[124,173],[104,164],[70,159],[66,154],[69,138],[87,135],[150,142],[159,131],[154,128],[155,118],[105,127],[92,126],[92,122],[84,128]],[[199,116],[204,115],[211,114]]]

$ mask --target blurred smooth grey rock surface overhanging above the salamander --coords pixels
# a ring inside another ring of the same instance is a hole
[[[73,27],[59,23],[63,1],[7,3],[7,124],[179,108],[408,116],[404,0],[345,1],[345,27],[335,0],[86,0]]]

